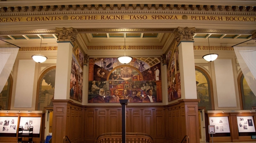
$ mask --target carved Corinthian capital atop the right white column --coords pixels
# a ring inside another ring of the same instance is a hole
[[[193,41],[193,35],[196,32],[196,28],[181,28],[178,27],[178,29],[174,32],[176,41],[179,43],[180,41]]]

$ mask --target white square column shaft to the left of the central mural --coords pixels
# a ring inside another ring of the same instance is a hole
[[[71,42],[58,42],[54,99],[69,99],[72,49]]]

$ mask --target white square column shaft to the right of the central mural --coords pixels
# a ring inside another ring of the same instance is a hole
[[[181,99],[197,99],[193,41],[178,45],[180,61]]]

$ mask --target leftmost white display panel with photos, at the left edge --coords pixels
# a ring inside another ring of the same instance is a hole
[[[0,133],[16,133],[18,117],[0,117]]]

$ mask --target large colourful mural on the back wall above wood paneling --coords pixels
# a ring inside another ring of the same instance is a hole
[[[117,58],[90,58],[88,103],[162,102],[156,91],[156,81],[161,81],[160,58],[143,59],[133,58],[123,65]]]

